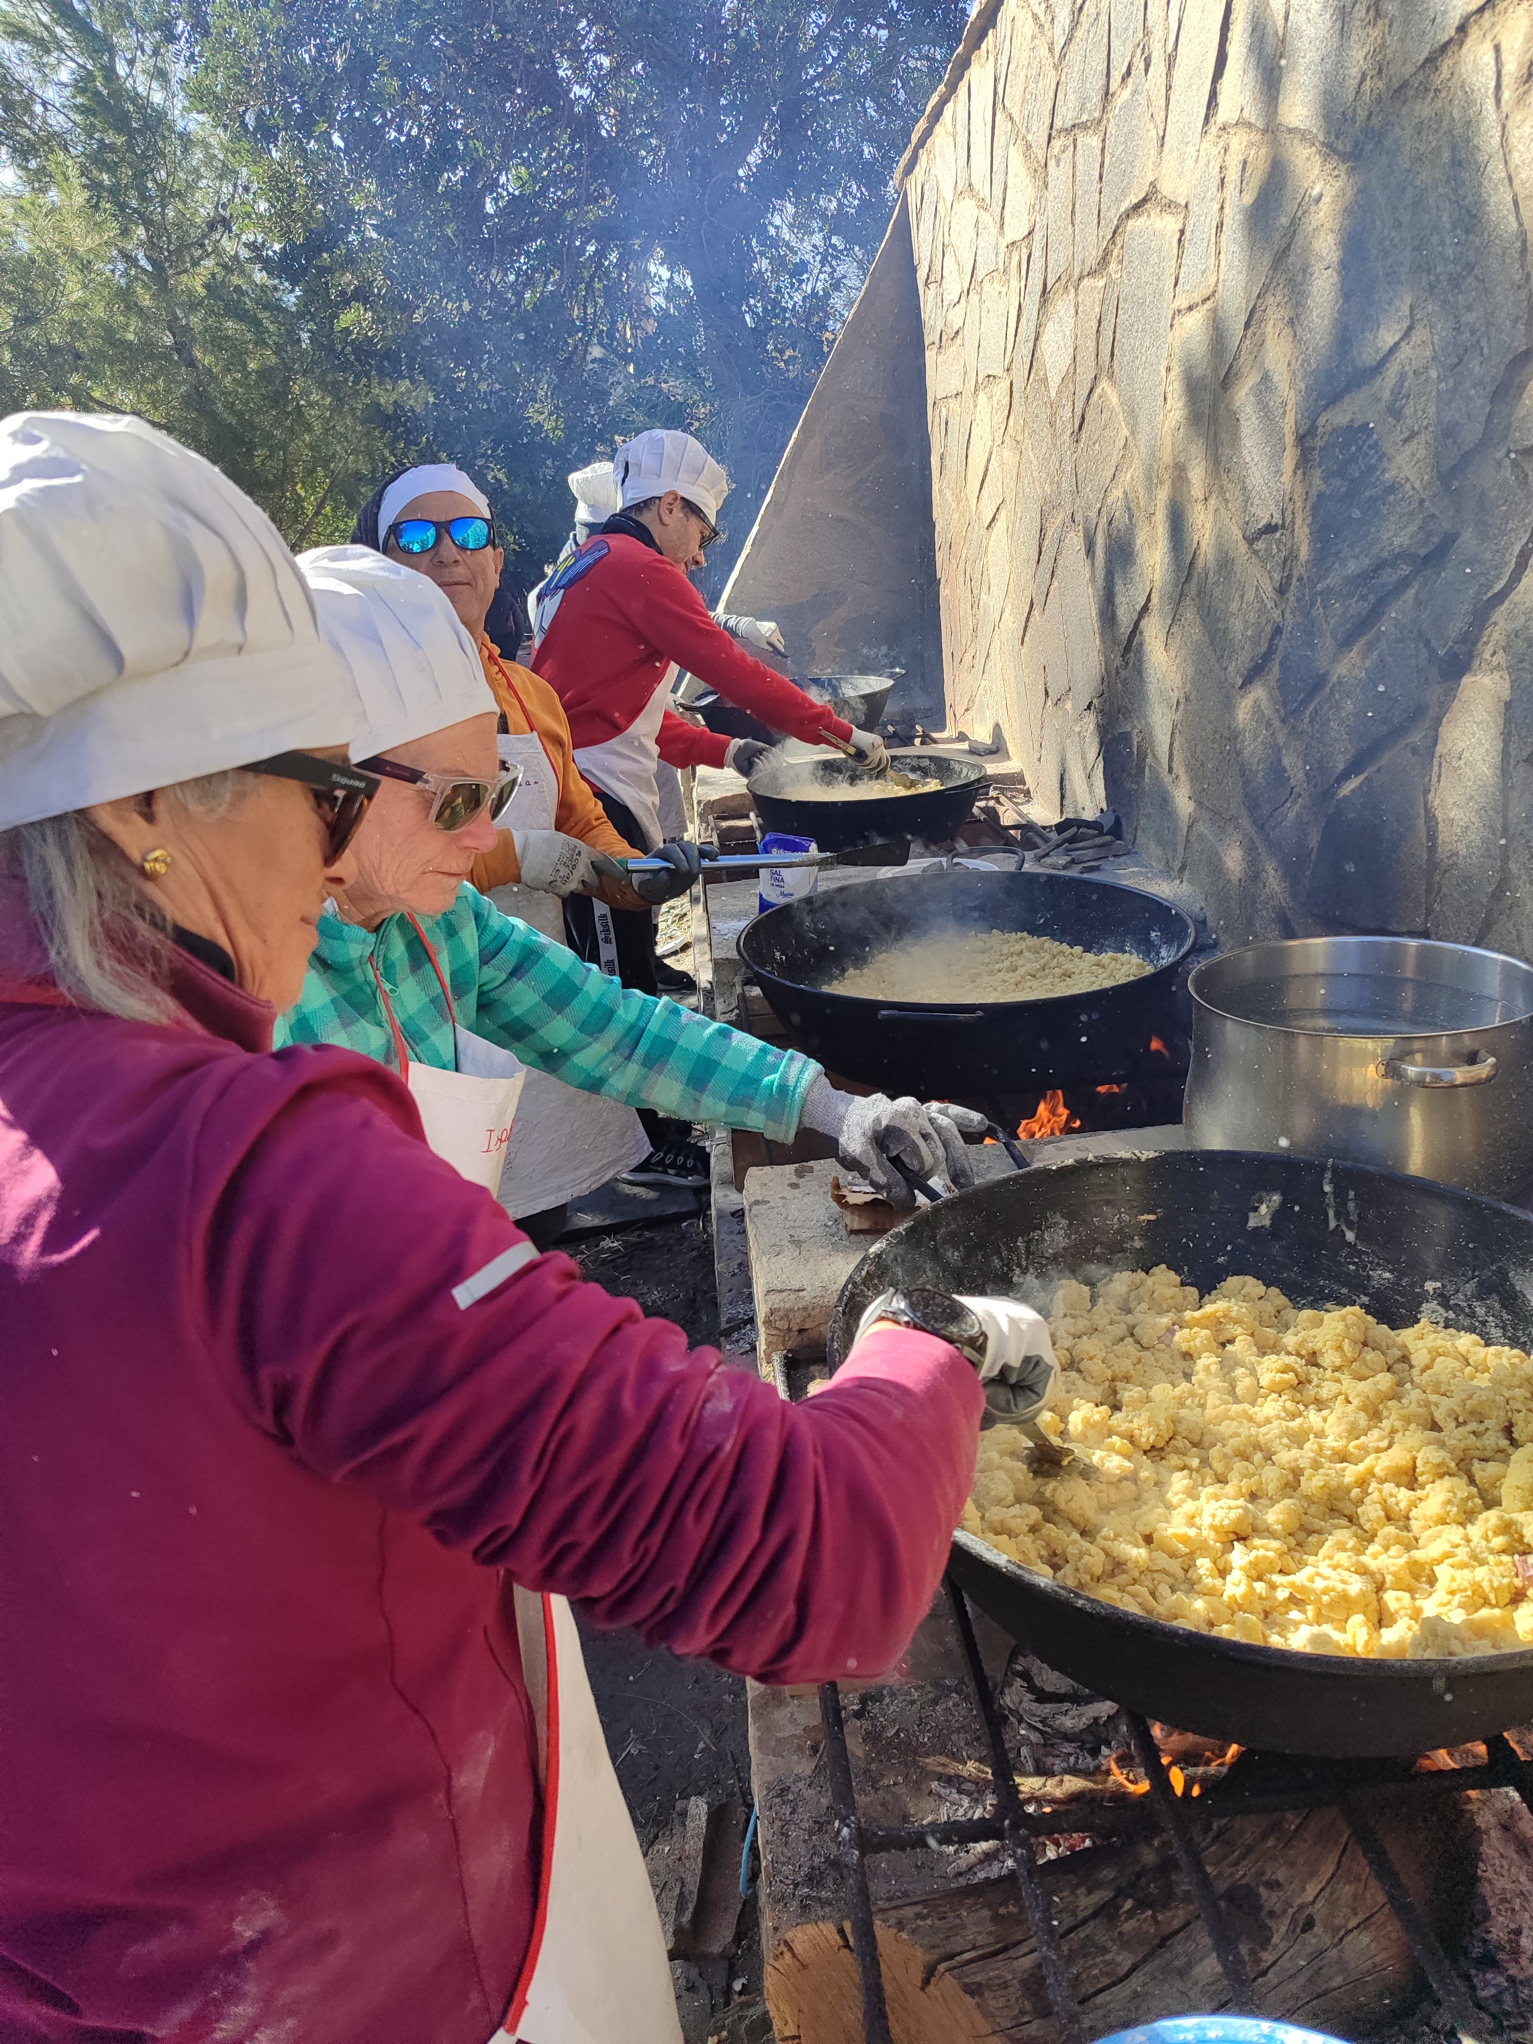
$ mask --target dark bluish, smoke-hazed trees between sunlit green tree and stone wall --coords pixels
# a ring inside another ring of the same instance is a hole
[[[564,472],[699,431],[742,540],[889,219],[963,0],[208,0],[294,284],[368,253],[378,366],[533,558]],[[345,282],[343,282],[345,280]],[[724,552],[724,550],[719,550]]]

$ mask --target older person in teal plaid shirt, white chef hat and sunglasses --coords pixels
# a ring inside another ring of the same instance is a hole
[[[374,554],[325,548],[305,556],[305,572],[321,630],[358,687],[352,758],[384,779],[354,840],[358,877],[319,920],[278,1044],[333,1042],[394,1069],[452,1071],[458,1024],[628,1106],[783,1143],[814,1128],[899,1204],[912,1194],[895,1155],[916,1175],[973,1181],[963,1132],[983,1128],[983,1116],[842,1094],[814,1059],[636,993],[470,887],[474,858],[495,844],[499,769],[495,697],[472,642],[446,597],[409,568],[394,576]],[[472,805],[464,791],[476,787]]]

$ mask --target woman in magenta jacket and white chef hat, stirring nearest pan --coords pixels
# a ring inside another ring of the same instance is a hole
[[[519,1989],[511,1584],[764,1680],[887,1666],[975,1367],[883,1327],[787,1406],[533,1253],[380,1065],[272,1055],[366,777],[206,462],[0,423],[0,2036],[585,2036]]]

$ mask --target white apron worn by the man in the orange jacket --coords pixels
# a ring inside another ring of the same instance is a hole
[[[558,781],[538,734],[501,732],[501,760],[521,766],[521,787],[501,822],[511,830],[554,830]],[[558,895],[513,883],[495,887],[491,901],[503,916],[519,916],[558,944],[566,942]],[[632,1108],[583,1094],[548,1071],[529,1071],[505,1157],[501,1206],[509,1214],[542,1214],[595,1192],[648,1155],[650,1139]]]

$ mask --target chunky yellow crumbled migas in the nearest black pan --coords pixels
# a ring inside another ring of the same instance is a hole
[[[1521,1349],[1255,1278],[1063,1284],[1044,1429],[981,1437],[963,1525],[1124,1611],[1306,1654],[1533,1647],[1533,1367]]]

